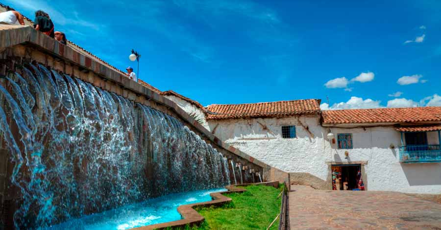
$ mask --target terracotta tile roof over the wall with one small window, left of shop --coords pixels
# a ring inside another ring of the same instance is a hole
[[[320,100],[292,100],[252,104],[217,105],[207,107],[212,114],[207,119],[236,119],[252,117],[284,117],[300,114],[319,114]]]

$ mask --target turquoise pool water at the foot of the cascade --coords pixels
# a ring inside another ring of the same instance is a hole
[[[52,226],[49,230],[124,230],[180,220],[180,205],[211,201],[210,193],[224,188],[169,194],[141,203],[127,205]]]

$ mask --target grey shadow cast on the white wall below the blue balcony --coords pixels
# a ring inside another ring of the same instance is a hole
[[[411,186],[441,185],[441,163],[401,163]]]

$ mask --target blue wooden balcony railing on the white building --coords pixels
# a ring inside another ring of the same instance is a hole
[[[441,162],[441,148],[439,144],[399,146],[399,150],[400,162]]]

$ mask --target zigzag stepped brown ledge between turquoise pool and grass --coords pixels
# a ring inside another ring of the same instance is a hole
[[[161,230],[161,229],[166,229],[166,228],[172,228],[172,229],[182,228],[182,227],[185,227],[186,225],[190,225],[190,226],[198,225],[198,224],[202,223],[205,220],[205,218],[203,216],[201,216],[194,209],[195,207],[208,207],[208,206],[219,207],[225,203],[232,201],[231,198],[226,197],[223,194],[229,194],[229,193],[234,193],[234,192],[245,192],[246,191],[246,189],[238,188],[236,186],[248,186],[248,185],[259,185],[259,184],[273,186],[275,188],[279,187],[278,181],[228,185],[228,186],[225,186],[225,188],[228,189],[228,191],[210,193],[210,196],[213,198],[212,201],[179,206],[178,212],[182,216],[181,220],[171,221],[171,222],[166,222],[166,223],[161,223],[161,224],[156,224],[156,225],[143,226],[143,227],[139,227],[139,228],[134,228],[132,230]]]

